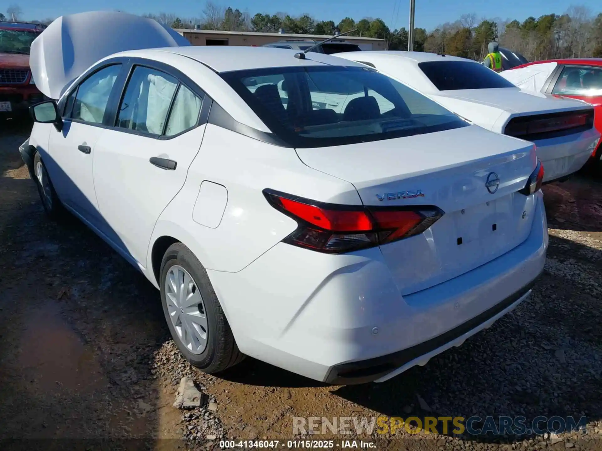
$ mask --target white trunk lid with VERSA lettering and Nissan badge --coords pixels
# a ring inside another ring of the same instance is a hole
[[[518,192],[536,165],[526,141],[470,126],[297,153],[353,183],[365,206],[443,210],[426,232],[380,247],[402,294],[477,268],[529,235],[533,197]]]

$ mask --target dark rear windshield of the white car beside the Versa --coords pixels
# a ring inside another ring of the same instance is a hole
[[[439,91],[516,88],[488,67],[474,61],[426,61],[418,67]]]

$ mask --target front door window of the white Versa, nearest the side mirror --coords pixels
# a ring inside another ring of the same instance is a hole
[[[93,73],[67,97],[65,116],[91,124],[101,124],[120,64]]]

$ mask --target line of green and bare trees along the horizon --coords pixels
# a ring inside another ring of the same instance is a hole
[[[9,17],[21,14],[20,8],[12,5]],[[179,17],[176,14],[143,14],[172,28],[224,31],[258,31],[276,33],[284,29],[287,33],[333,35],[335,31],[355,29],[351,36],[385,39],[390,50],[408,49],[408,30],[391,30],[383,19],[364,17],[356,21],[344,17],[334,20],[315,20],[311,14],[290,16],[276,12],[256,13],[222,7],[208,1],[200,17]],[[1,17],[4,14],[0,14]],[[34,21],[49,23],[50,19]],[[584,6],[571,6],[563,14],[544,14],[539,18],[527,17],[523,22],[499,18],[477,19],[476,14],[463,14],[455,22],[447,22],[431,31],[414,29],[414,50],[455,55],[482,60],[487,54],[487,44],[497,40],[501,47],[523,54],[529,61],[550,58],[602,57],[602,13],[594,14]]]

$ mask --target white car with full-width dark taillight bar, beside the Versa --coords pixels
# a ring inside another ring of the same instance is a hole
[[[397,51],[334,56],[375,67],[474,124],[532,141],[544,164],[544,182],[579,171],[600,138],[591,105],[523,91],[476,61]]]

